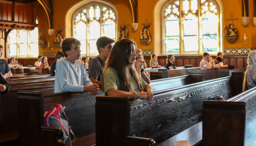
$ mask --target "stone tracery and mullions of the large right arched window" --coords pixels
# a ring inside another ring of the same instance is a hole
[[[179,48],[179,52],[166,52],[166,45],[164,40],[166,39],[166,27],[165,27],[165,20],[167,19],[168,15],[173,14],[172,12],[170,14],[168,14],[167,16],[165,16],[165,10],[168,8],[168,6],[172,3],[175,3],[175,1],[177,0],[170,0],[168,2],[166,2],[162,7],[161,10],[161,16],[162,16],[162,53],[163,55],[202,55],[203,52],[203,47],[202,47],[202,25],[201,25],[201,18],[203,16],[204,13],[202,13],[202,7],[204,6],[204,3],[208,2],[208,6],[210,5],[210,2],[212,2],[217,9],[217,17],[218,17],[218,33],[217,33],[217,38],[218,38],[218,48],[217,51],[207,51],[207,53],[209,54],[217,54],[218,52],[222,52],[223,50],[223,31],[222,31],[222,13],[220,13],[220,7],[219,7],[219,3],[216,0],[205,0],[205,2],[201,3],[201,0],[198,0],[198,10],[196,13],[192,13],[193,15],[195,15],[198,18],[198,27],[199,27],[199,33],[198,33],[198,43],[199,43],[199,50],[195,51],[195,52],[185,52],[184,51],[184,28],[183,28],[183,19],[185,18],[185,16],[188,16],[189,13],[192,12],[191,7],[189,7],[189,11],[188,13],[183,13],[182,12],[182,7],[183,7],[183,0],[179,0],[179,29],[180,29],[180,48]],[[188,0],[190,2],[191,6],[191,0]],[[209,11],[209,10],[208,10]],[[212,13],[212,12],[210,12]],[[176,15],[175,15],[176,16]]]

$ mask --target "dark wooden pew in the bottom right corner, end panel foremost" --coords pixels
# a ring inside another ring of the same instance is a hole
[[[255,146],[255,105],[256,88],[225,102],[204,101],[203,146]]]

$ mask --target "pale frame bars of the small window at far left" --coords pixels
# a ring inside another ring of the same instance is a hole
[[[38,28],[38,27],[37,27]],[[37,58],[38,57],[38,54],[37,55],[31,55],[31,52],[30,52],[30,50],[31,50],[31,48],[30,48],[30,41],[29,41],[29,32],[30,31],[32,31],[32,30],[26,30],[26,32],[27,32],[27,55],[20,55],[20,43],[19,43],[19,32],[20,32],[20,30],[16,30],[17,32],[17,34],[16,34],[16,45],[17,45],[17,55],[16,56],[10,56],[10,47],[9,47],[9,45],[10,45],[10,37],[9,37],[9,35],[7,36],[7,47],[6,47],[6,51],[7,51],[7,57],[6,58],[11,58],[11,57],[15,57],[15,58]],[[39,30],[38,30],[39,31]],[[38,35],[39,35],[39,33],[38,33]],[[38,36],[38,38],[39,38],[39,36]],[[39,53],[39,46],[38,46],[38,53]]]

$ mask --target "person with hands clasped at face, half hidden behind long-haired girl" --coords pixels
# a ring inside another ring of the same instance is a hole
[[[150,84],[150,76],[148,75],[148,72],[146,71],[147,64],[145,63],[145,60],[142,56],[142,51],[140,49],[138,50],[138,57],[135,61],[135,69],[137,73],[141,76],[141,78],[148,84]]]

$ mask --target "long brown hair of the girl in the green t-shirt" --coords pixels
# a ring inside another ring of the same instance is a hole
[[[105,71],[108,68],[114,68],[117,71],[119,78],[119,90],[127,92],[132,91],[133,84],[131,82],[130,75],[134,77],[138,90],[143,90],[142,83],[139,80],[140,76],[136,72],[134,65],[130,63],[132,44],[134,44],[136,48],[136,43],[131,39],[121,39],[115,43],[102,73],[103,83]],[[104,86],[102,89],[104,90]]]

